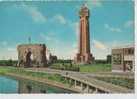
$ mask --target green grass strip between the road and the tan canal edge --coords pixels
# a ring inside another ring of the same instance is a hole
[[[46,78],[48,80],[56,81],[68,85],[67,81],[59,75],[59,74],[48,74],[48,73],[41,73],[41,72],[32,72],[32,71],[25,71],[23,68],[16,68],[16,67],[0,67],[0,74],[6,75],[6,73],[14,73],[23,76],[30,76],[30,77],[38,77],[38,78]]]

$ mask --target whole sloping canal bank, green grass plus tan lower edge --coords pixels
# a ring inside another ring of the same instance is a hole
[[[58,74],[38,73],[25,71],[23,68],[15,67],[0,67],[0,75],[6,75],[17,79],[26,79],[43,84],[48,84],[58,88],[72,91],[72,93],[81,93],[80,90],[70,87],[69,83],[65,82],[63,77]]]

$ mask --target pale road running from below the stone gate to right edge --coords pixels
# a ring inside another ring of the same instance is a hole
[[[119,77],[119,78],[134,78],[134,73],[82,73],[82,72],[74,72],[74,71],[65,71],[65,70],[56,70],[56,69],[50,69],[50,68],[27,68],[27,70],[32,70],[35,72],[47,72],[47,73],[55,73],[55,74],[62,74],[65,75],[66,73],[71,75],[78,75],[78,76],[86,76],[88,78],[90,77]]]

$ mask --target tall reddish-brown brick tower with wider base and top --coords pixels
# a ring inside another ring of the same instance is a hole
[[[79,51],[76,55],[76,63],[89,64],[93,60],[90,53],[89,14],[89,9],[84,4],[79,11]]]

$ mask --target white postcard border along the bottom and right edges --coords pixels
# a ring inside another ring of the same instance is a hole
[[[0,0],[1,1],[1,0]],[[134,94],[0,94],[0,99],[135,99],[137,98],[137,0],[135,1],[135,93]]]

